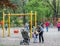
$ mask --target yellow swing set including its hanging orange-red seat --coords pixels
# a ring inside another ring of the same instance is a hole
[[[4,37],[4,33],[5,33],[5,16],[8,16],[8,37],[10,37],[10,32],[11,32],[11,30],[10,30],[10,17],[11,16],[26,16],[26,15],[29,15],[30,16],[30,37],[32,38],[32,16],[34,15],[34,17],[35,17],[35,27],[36,27],[36,12],[33,14],[32,13],[32,11],[31,11],[31,13],[27,13],[27,14],[5,14],[4,12],[3,12],[3,21],[2,21],[2,23],[1,23],[1,25],[2,25],[2,37]],[[21,27],[20,27],[21,28]],[[13,32],[15,33],[15,34],[17,34],[17,33],[19,33],[19,30],[17,29],[17,28],[14,28],[14,30],[13,30]]]

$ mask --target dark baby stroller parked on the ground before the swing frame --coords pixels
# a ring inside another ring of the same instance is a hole
[[[23,30],[21,32],[21,34],[22,34],[23,40],[20,41],[20,45],[29,45],[30,39],[29,39],[29,36],[28,36],[28,32]]]

